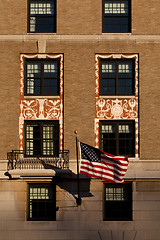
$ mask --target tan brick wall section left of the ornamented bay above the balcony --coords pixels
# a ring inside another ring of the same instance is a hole
[[[20,52],[34,52],[35,42],[0,42],[0,159],[18,149]]]

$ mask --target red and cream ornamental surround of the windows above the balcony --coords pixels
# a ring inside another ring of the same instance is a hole
[[[60,59],[60,96],[58,98],[30,99],[24,97],[24,60],[25,58]],[[20,56],[20,103],[19,103],[19,149],[23,150],[24,120],[59,120],[60,149],[63,141],[63,55],[62,54],[22,54]]]

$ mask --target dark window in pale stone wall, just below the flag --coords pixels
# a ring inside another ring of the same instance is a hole
[[[104,220],[132,220],[132,184],[104,184]]]

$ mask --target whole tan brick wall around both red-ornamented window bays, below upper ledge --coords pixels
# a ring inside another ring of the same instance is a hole
[[[64,142],[75,159],[75,134],[94,145],[95,53],[139,53],[140,157],[159,159],[159,43],[47,41],[46,52],[64,53]],[[36,41],[1,42],[0,158],[18,149],[20,53],[36,53]]]

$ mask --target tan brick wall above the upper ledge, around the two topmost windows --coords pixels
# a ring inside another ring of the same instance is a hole
[[[159,1],[132,1],[132,33],[160,34]],[[0,1],[0,34],[27,33],[27,0]],[[143,9],[143,11],[142,11]],[[102,1],[57,0],[58,34],[102,34]]]

